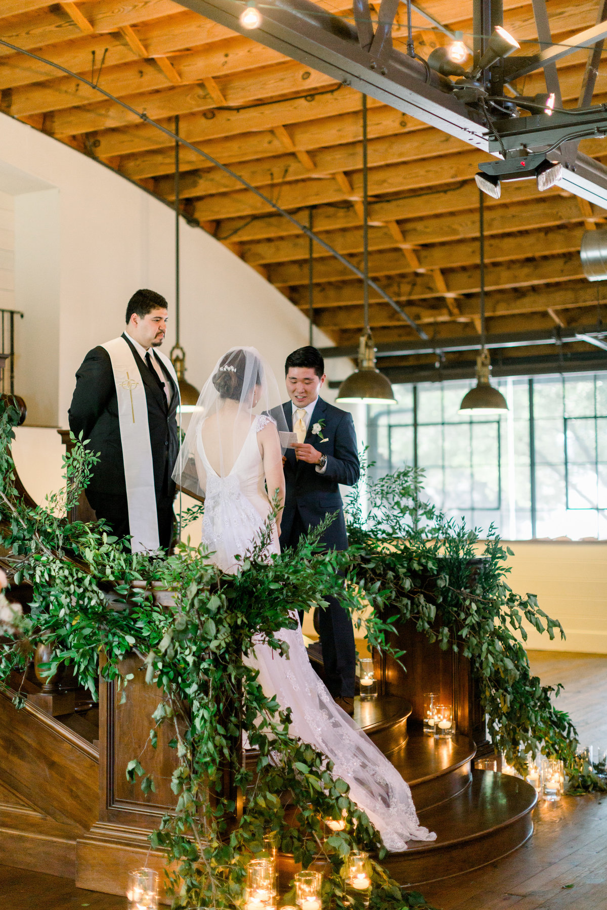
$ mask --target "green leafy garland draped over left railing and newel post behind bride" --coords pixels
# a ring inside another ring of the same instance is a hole
[[[322,607],[319,591],[339,595],[352,612],[360,610],[348,554],[319,551],[323,528],[301,541],[294,554],[270,561],[266,541],[260,541],[235,575],[219,571],[203,548],[181,546],[166,561],[131,554],[103,524],[70,524],[62,517],[90,476],[93,460],[81,443],[64,458],[65,490],[45,507],[25,506],[15,492],[8,450],[16,418],[0,404],[0,514],[14,581],[30,582],[33,599],[20,636],[0,643],[5,691],[11,673],[25,671],[40,642],[54,648],[46,672],[66,663],[94,697],[99,673],[120,687],[128,684],[132,677],[121,671],[121,662],[136,652],[147,664],[147,681],[159,690],[147,749],[157,747],[161,725],[170,724],[173,732],[176,810],[151,836],[171,866],[173,906],[242,905],[248,859],[273,831],[279,849],[293,854],[296,863],[324,864],[324,905],[343,910],[344,857],[359,848],[380,859],[385,849],[326,757],[289,735],[289,712],[264,695],[246,658],[254,640],[285,652],[278,632],[294,624],[288,612]],[[153,596],[155,586],[171,592],[168,605]],[[374,595],[367,596],[373,603]],[[369,641],[384,646],[390,629],[378,613],[369,621]],[[14,702],[23,703],[19,693]],[[258,750],[254,769],[241,764],[244,733]],[[128,763],[126,773],[147,793],[155,782],[145,770],[145,754]],[[238,820],[236,805],[221,798],[227,769],[243,795]],[[342,815],[345,830],[327,836],[323,819]],[[389,879],[379,863],[372,868],[374,910],[428,906],[421,895]]]

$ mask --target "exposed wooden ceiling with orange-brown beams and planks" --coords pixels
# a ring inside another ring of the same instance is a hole
[[[339,0],[322,5],[351,16]],[[594,25],[599,5],[549,0],[552,40]],[[471,44],[471,0],[425,0],[424,8]],[[182,136],[299,220],[308,223],[313,207],[314,229],[361,267],[359,93],[170,0],[2,0],[0,13],[0,38],[92,76],[170,129],[179,115]],[[421,56],[448,40],[418,14],[413,23]],[[401,5],[393,35],[403,50],[405,24]],[[521,42],[521,53],[538,49],[530,0],[504,0],[504,25]],[[581,51],[561,60],[564,106],[578,103],[588,56]],[[546,90],[541,71],[517,87],[527,96]],[[6,115],[98,158],[163,199],[174,198],[173,145],[154,126],[76,78],[2,45],[0,88]],[[603,64],[593,103],[604,101]],[[607,158],[607,142],[600,139],[584,140],[581,149]],[[369,271],[432,338],[480,331],[473,175],[482,158],[369,98]],[[180,171],[187,217],[307,312],[308,239],[234,177],[187,149]],[[501,200],[486,202],[488,331],[595,322],[597,286],[583,278],[579,249],[584,230],[604,223],[607,213],[558,187],[540,194],[532,180],[507,184]],[[361,282],[318,245],[314,258],[315,324],[338,344],[356,343],[363,324]],[[376,292],[370,300],[376,341],[414,337]],[[583,342],[577,347],[588,350]]]

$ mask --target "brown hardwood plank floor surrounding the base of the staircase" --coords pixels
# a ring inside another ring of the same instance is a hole
[[[563,682],[558,706],[583,743],[607,747],[607,656],[531,652],[542,682]],[[534,810],[535,834],[497,863],[424,885],[440,910],[604,910],[607,907],[607,798],[566,797]],[[126,899],[73,881],[0,866],[0,910],[126,910]]]

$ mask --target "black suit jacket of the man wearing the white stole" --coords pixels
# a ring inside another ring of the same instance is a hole
[[[122,336],[133,351],[137,368],[146,389],[147,424],[152,446],[154,485],[157,494],[172,497],[175,483],[171,473],[177,460],[177,406],[179,396],[175,382],[158,360],[168,388],[172,391],[170,404],[146,363],[137,354],[126,335]],[[97,462],[88,489],[97,495],[126,495],[125,468],[120,441],[118,399],[109,354],[105,348],[89,350],[76,372],[76,389],[69,409],[69,429],[76,438],[82,432],[89,440],[86,448],[98,452]],[[164,489],[163,489],[164,488]]]

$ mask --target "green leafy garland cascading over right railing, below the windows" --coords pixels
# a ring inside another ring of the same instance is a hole
[[[562,759],[572,773],[580,765],[575,728],[551,703],[561,686],[543,686],[531,675],[521,643],[525,622],[551,639],[555,631],[564,638],[561,623],[533,594],[511,590],[504,562],[513,554],[493,527],[481,543],[477,530],[421,501],[421,484],[422,472],[405,468],[370,482],[364,508],[359,490],[351,494],[353,573],[377,592],[376,611],[415,622],[430,642],[470,659],[492,743],[509,764],[525,775],[526,756],[541,752]]]

